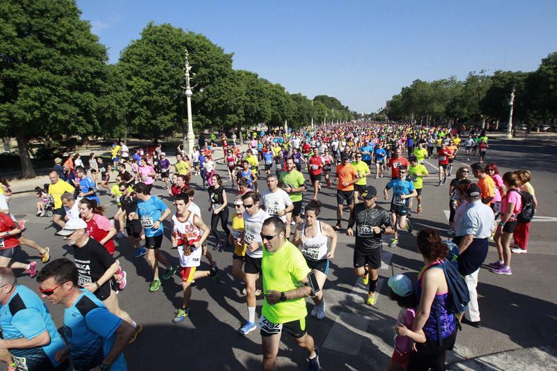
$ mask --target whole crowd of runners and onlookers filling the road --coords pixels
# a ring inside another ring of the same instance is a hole
[[[125,370],[125,345],[142,330],[118,303],[117,293],[133,278],[113,258],[115,240],[120,245],[128,239],[134,258],[145,256],[152,270],[148,292],[180,277],[183,303],[169,320],[189,317],[191,285],[205,277],[218,282],[221,269],[231,265],[246,301],[245,323],[237,332],[245,336],[259,329],[263,368],[276,368],[285,331],[306,349],[308,369],[319,370],[305,298],[313,301],[311,316],[327,316],[323,288],[338,234],[354,237],[352,268],[368,287],[365,305],[374,306],[383,235],[392,235],[388,245],[397,246],[401,234],[413,231],[412,214],[430,207],[422,194],[423,180],[432,177],[429,161],[448,198],[449,239],[421,230],[416,248],[424,268],[418,281],[389,278],[390,297],[401,307],[389,370],[444,370],[460,324],[480,326],[476,286],[489,241],[499,253],[489,264],[492,272],[512,274],[512,253],[527,252],[537,206],[531,173],[499,174],[486,160],[488,143],[485,132],[465,127],[345,123],[253,133],[244,150],[235,134],[231,140],[223,134],[218,143],[215,136],[210,143],[202,137],[191,157],[178,147],[171,162],[160,144],[132,151],[115,142],[110,159],[94,153],[88,161],[79,155],[55,159],[50,184],[37,187],[37,217],[52,218],[60,244],[72,248],[72,259],[52,262],[48,247],[24,237],[25,227],[9,211],[9,184],[0,182],[0,359],[12,370],[67,370],[68,359],[75,370]],[[474,163],[457,166],[457,158]],[[377,189],[372,179],[381,177],[389,181]],[[151,194],[155,182],[171,207]],[[324,187],[336,189],[334,225],[319,217]],[[205,192],[210,206],[202,212],[195,200]],[[115,199],[116,214],[106,214],[101,194]],[[390,200],[390,206],[380,207],[378,199]],[[36,262],[17,261],[22,244],[47,264],[38,269]],[[179,264],[172,265],[162,249]],[[217,265],[211,251],[232,256]],[[40,297],[65,307],[64,338],[38,295],[17,284],[12,269],[37,276]]]

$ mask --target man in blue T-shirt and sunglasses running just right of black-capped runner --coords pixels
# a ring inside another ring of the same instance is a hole
[[[391,224],[395,228],[395,238],[389,244],[389,247],[395,247],[398,244],[398,230],[404,229],[412,232],[412,225],[407,219],[409,199],[418,196],[418,192],[414,187],[414,182],[406,180],[408,175],[408,166],[400,165],[398,167],[398,177],[387,183],[383,190],[385,200],[389,200],[389,189],[393,189],[393,199],[391,200]],[[398,224],[397,224],[398,219]]]

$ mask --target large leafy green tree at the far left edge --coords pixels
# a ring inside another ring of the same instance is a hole
[[[0,132],[17,139],[24,177],[35,176],[31,139],[104,129],[107,49],[80,15],[70,0],[0,3]]]

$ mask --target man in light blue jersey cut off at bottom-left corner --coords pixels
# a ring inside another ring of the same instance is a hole
[[[0,360],[12,370],[63,371],[68,361],[56,361],[65,342],[40,297],[18,285],[12,269],[0,268]]]

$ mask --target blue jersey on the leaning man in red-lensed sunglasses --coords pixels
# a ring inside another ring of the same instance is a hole
[[[64,309],[64,335],[71,345],[70,355],[76,370],[91,370],[102,363],[116,340],[122,319],[87,290],[70,308]],[[110,366],[111,371],[127,370],[124,354]]]

